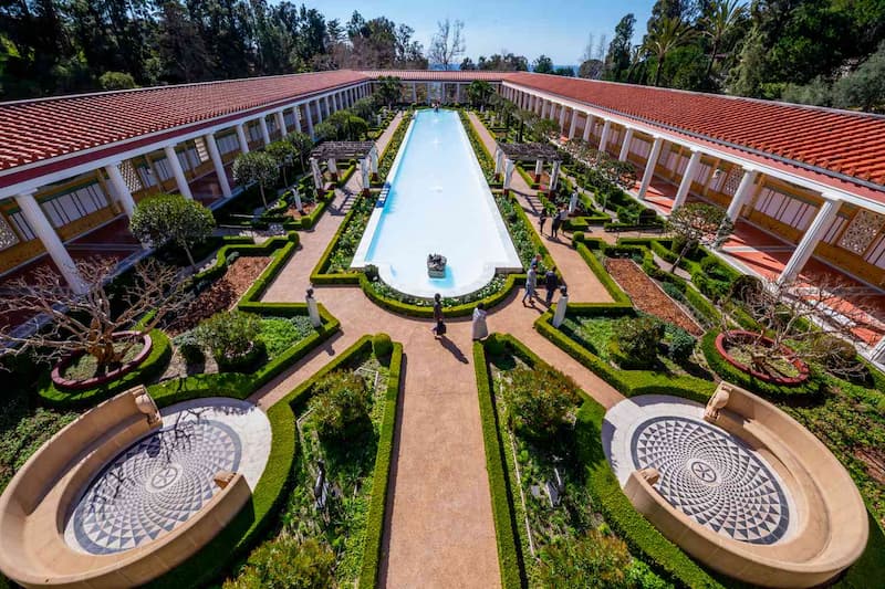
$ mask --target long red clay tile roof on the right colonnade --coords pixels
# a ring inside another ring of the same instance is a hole
[[[885,190],[879,115],[545,74],[512,73],[507,81]]]

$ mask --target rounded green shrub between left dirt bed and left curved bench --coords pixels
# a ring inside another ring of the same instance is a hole
[[[222,311],[202,322],[196,330],[223,372],[242,371],[263,354],[258,340],[261,320],[251,313]]]

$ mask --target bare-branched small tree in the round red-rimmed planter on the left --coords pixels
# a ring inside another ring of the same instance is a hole
[[[74,293],[46,266],[6,285],[8,294],[0,297],[0,313],[43,315],[49,322],[30,335],[17,335],[10,325],[0,327],[0,357],[29,353],[38,361],[55,362],[87,354],[95,358],[97,374],[103,374],[118,365],[131,347],[125,341],[115,345],[114,334],[135,329],[139,317],[154,312],[137,327],[147,333],[187,304],[177,270],[156,260],[136,264],[129,284],[117,288],[110,286],[115,260],[81,260],[76,270],[86,285],[84,295]]]

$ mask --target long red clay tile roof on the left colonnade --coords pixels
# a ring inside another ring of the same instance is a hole
[[[362,80],[358,72],[321,72],[0,103],[0,170]]]

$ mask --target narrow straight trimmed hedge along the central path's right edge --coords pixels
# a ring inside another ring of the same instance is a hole
[[[489,340],[497,338],[493,334]],[[479,391],[479,416],[482,422],[482,442],[486,448],[486,471],[489,473],[491,491],[491,509],[494,518],[494,536],[498,541],[498,565],[501,568],[501,586],[504,589],[527,585],[525,569],[522,562],[522,549],[517,538],[517,520],[512,508],[513,496],[510,480],[504,465],[504,448],[498,425],[498,412],[494,409],[489,366],[486,360],[486,347],[481,341],[473,343],[473,369]]]

